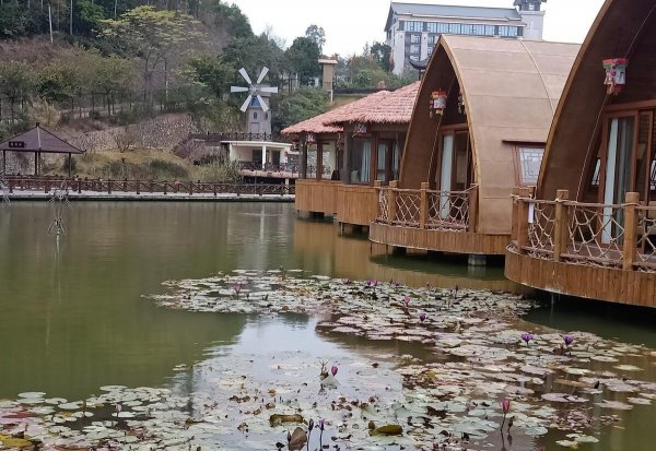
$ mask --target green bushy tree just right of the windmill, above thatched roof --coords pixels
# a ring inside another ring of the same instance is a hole
[[[272,132],[326,112],[328,109],[328,93],[324,90],[298,90],[293,94],[271,97]]]

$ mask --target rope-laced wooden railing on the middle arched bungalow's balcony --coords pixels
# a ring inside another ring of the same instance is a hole
[[[390,181],[389,187],[377,183],[376,192],[377,223],[430,230],[476,232],[476,185],[466,191],[434,191],[429,189],[427,182],[421,183],[419,190],[409,190]]]

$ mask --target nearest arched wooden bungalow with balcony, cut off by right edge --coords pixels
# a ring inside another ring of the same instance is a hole
[[[656,307],[656,4],[607,0],[567,80],[506,276]]]

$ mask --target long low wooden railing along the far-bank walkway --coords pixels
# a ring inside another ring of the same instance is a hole
[[[68,189],[78,193],[83,191],[159,193],[159,194],[295,194],[293,185],[265,185],[265,183],[213,183],[202,181],[162,181],[162,180],[105,180],[105,179],[67,179],[58,177],[16,177],[8,176],[9,192],[14,191],[42,191],[50,192],[55,189]]]

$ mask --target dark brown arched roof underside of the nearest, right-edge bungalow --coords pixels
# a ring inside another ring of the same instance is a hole
[[[581,198],[606,105],[656,98],[655,11],[654,0],[607,0],[601,7],[558,106],[538,181],[540,198],[553,199],[558,189]],[[607,95],[604,86],[601,61],[609,58],[629,58],[626,87],[618,96]]]

